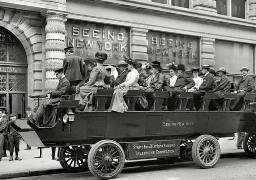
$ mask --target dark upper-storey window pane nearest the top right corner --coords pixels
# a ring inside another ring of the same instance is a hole
[[[245,18],[244,0],[232,0],[231,1],[231,16]]]

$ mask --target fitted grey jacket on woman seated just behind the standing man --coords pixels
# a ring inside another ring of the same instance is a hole
[[[85,83],[85,86],[99,86],[105,85],[104,78],[106,76],[106,69],[102,64],[98,64],[91,70],[89,81]]]

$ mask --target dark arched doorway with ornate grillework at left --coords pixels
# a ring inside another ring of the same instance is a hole
[[[18,118],[25,117],[27,58],[21,42],[0,27],[0,106]]]

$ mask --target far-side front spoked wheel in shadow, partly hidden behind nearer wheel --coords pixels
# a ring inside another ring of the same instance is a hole
[[[90,146],[68,146],[60,149],[60,165],[68,172],[88,170],[87,158]]]

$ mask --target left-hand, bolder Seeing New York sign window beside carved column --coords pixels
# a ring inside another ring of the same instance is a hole
[[[73,46],[77,56],[93,58],[97,52],[107,53],[106,64],[117,64],[128,55],[129,29],[83,21],[68,20],[67,46]]]

